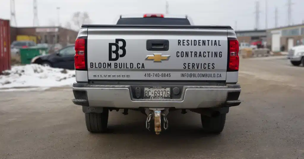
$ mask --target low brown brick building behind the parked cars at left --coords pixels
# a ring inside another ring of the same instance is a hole
[[[62,27],[11,27],[11,42],[16,41],[18,35],[35,36],[37,43],[54,44],[59,41],[58,43],[66,46],[75,42],[78,31]]]

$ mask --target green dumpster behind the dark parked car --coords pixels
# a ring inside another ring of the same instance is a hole
[[[48,48],[44,48],[44,47],[21,48],[20,49],[21,64],[30,64],[32,58],[39,55],[45,55],[47,53],[48,53]]]

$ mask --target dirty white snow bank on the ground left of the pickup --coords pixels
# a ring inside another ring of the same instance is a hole
[[[16,88],[40,90],[50,87],[71,86],[75,82],[75,71],[44,67],[37,64],[13,66],[0,75],[0,90],[13,91]],[[9,90],[8,90],[9,89]]]

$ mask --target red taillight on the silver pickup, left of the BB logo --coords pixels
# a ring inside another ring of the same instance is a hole
[[[76,39],[75,41],[75,69],[85,69],[85,39]]]

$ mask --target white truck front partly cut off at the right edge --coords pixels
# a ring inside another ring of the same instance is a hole
[[[299,66],[301,64],[304,66],[304,45],[292,47],[288,51],[287,59],[289,59],[294,66]]]

